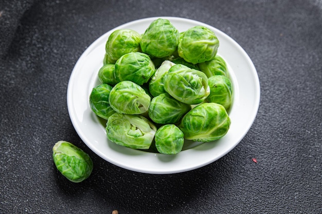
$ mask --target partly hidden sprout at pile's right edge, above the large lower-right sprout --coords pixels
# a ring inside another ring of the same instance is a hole
[[[207,101],[221,104],[228,110],[232,102],[230,80],[226,76],[215,75],[208,78],[208,84],[210,87],[210,94]]]

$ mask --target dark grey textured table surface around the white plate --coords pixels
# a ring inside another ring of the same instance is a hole
[[[231,152],[176,174],[119,168],[70,122],[66,91],[82,52],[112,28],[151,16],[214,26],[257,69],[257,118]],[[0,1],[0,213],[321,213],[322,2]],[[51,158],[59,140],[91,155],[71,183]],[[252,159],[256,158],[257,163]]]

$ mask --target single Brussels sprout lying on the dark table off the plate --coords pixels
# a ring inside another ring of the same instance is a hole
[[[52,158],[57,169],[71,182],[79,183],[92,173],[90,155],[69,142],[58,141],[52,147]]]

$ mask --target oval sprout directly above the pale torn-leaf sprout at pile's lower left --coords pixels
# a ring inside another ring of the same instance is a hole
[[[151,97],[139,85],[131,81],[122,81],[112,88],[109,102],[116,112],[141,114],[148,111]]]

